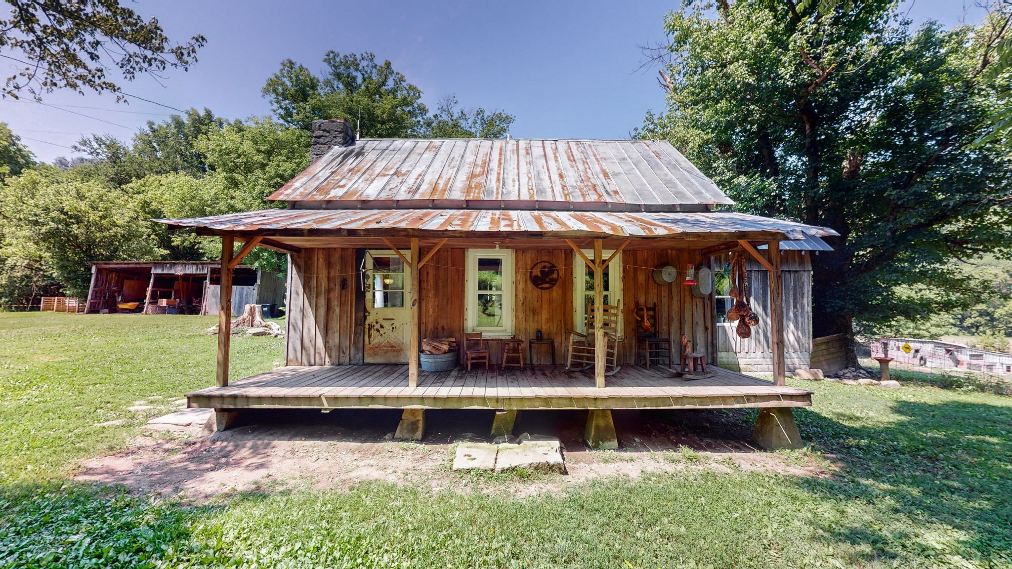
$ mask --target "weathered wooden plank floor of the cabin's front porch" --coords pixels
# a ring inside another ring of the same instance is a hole
[[[664,367],[623,365],[594,387],[592,371],[563,367],[524,370],[462,368],[420,372],[408,387],[408,367],[292,365],[187,394],[189,407],[449,408],[449,409],[698,409],[804,407],[812,392],[711,367],[704,380],[675,378]]]

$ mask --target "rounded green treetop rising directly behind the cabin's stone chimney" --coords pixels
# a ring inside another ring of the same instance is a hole
[[[417,137],[424,128],[427,109],[422,91],[394,70],[390,61],[375,56],[330,51],[317,77],[291,60],[263,87],[274,113],[285,125],[310,131],[313,120],[344,117],[358,120],[365,138]]]

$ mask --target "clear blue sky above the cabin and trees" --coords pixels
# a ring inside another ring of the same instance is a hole
[[[610,139],[627,138],[648,109],[664,106],[656,69],[638,70],[644,60],[639,46],[664,39],[664,15],[678,0],[130,5],[157,16],[170,37],[207,37],[199,62],[189,72],[170,73],[164,87],[148,77],[122,84],[124,91],[173,107],[207,107],[228,118],[267,114],[260,89],[281,60],[319,70],[328,50],[371,51],[421,88],[429,106],[452,94],[465,106],[516,115],[514,137]],[[903,9],[915,22],[945,25],[976,23],[983,13],[973,0],[907,0]],[[0,63],[4,76],[8,67]],[[146,120],[173,112],[140,100],[116,104],[107,94],[58,91],[44,100],[77,106],[0,100],[0,121],[47,162],[74,155],[66,147],[81,135],[129,140]]]

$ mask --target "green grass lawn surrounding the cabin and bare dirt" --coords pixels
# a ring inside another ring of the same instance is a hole
[[[1012,398],[920,384],[791,381],[816,392],[795,413],[811,448],[778,458],[826,455],[825,478],[698,467],[533,496],[363,483],[196,505],[68,482],[164,412],[126,407],[213,381],[212,323],[0,314],[0,567],[1012,567]],[[280,345],[237,338],[233,374]]]

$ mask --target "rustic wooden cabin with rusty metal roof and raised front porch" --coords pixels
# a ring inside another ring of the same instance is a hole
[[[614,409],[755,407],[760,443],[798,444],[790,409],[812,394],[785,385],[780,245],[832,230],[730,211],[666,142],[356,141],[342,120],[314,128],[314,161],[270,196],[286,209],[159,220],[220,236],[224,267],[256,246],[289,254],[284,365],[232,381],[223,334],[215,387],[187,396],[219,428],[242,409],[396,408],[398,435],[420,437],[426,409],[502,411],[500,432],[520,409],[586,409],[588,442],[614,446]],[[768,275],[773,381],[714,364],[716,299],[690,284],[731,252]],[[223,326],[231,310],[222,303]],[[425,372],[419,346],[433,337],[491,362]],[[650,338],[670,361],[644,360]],[[589,369],[565,365],[575,345],[590,348]],[[504,368],[506,347],[522,368]]]

